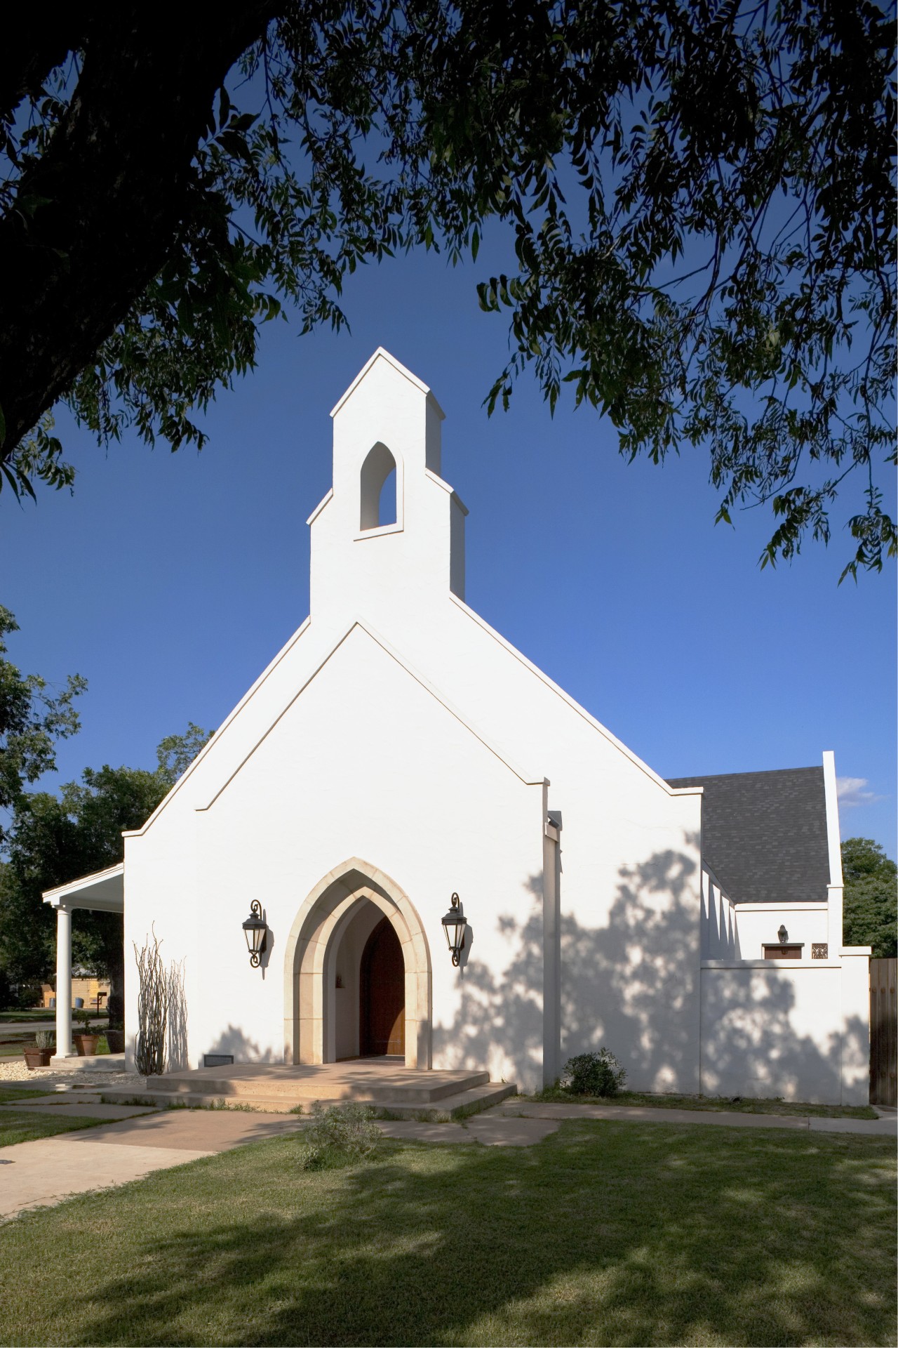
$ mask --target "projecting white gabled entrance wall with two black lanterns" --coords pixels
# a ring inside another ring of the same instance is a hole
[[[541,779],[522,782],[357,627],[276,733],[217,786],[193,818],[172,813],[171,845],[153,844],[152,830],[128,840],[129,927],[152,911],[166,953],[184,957],[190,973],[191,1065],[205,1053],[283,1060],[285,936],[320,878],[359,856],[401,886],[427,933],[434,1065],[541,1082],[541,968],[528,971],[521,1007],[506,996],[517,933],[534,930],[541,944]],[[180,880],[171,865],[188,851],[176,848],[179,833],[193,833],[194,852]],[[440,927],[452,890],[470,923],[460,969]],[[241,931],[250,898],[269,926],[260,971],[249,968]],[[182,925],[191,910],[193,948]]]

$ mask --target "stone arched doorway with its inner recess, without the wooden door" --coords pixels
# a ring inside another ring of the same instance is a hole
[[[330,871],[300,907],[284,953],[284,1058],[335,1062],[362,1053],[361,958],[386,919],[405,980],[405,1065],[431,1066],[431,957],[408,895],[377,867],[353,857]],[[369,1051],[370,1045],[368,1046]]]

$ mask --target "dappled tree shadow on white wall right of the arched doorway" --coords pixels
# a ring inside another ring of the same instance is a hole
[[[695,852],[665,849],[641,865],[621,868],[606,925],[587,927],[561,917],[561,1064],[606,1045],[634,1089],[699,1091],[696,872]],[[530,899],[525,917],[499,918],[513,950],[506,971],[497,976],[482,961],[469,960],[455,1022],[448,1030],[435,1029],[435,1049],[451,1066],[483,1068],[497,1054],[530,1062],[534,1070],[541,1065],[541,876],[530,878],[526,892],[537,896],[539,909]],[[839,1035],[820,1046],[796,1031],[793,1012],[794,992],[786,979],[774,981],[767,973],[762,995],[754,984],[730,983],[724,992],[710,981],[705,1024],[726,1030],[715,1039],[715,1064],[730,1064],[746,1081],[786,1082],[786,1091],[789,1082],[796,1089],[798,1082],[829,1082],[837,1100]],[[848,1039],[863,1058],[860,1022],[848,1026]]]

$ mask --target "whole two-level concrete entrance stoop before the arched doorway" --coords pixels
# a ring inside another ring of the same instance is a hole
[[[489,1072],[420,1072],[389,1058],[315,1066],[237,1062],[228,1068],[167,1072],[162,1077],[131,1076],[129,1082],[104,1088],[102,1100],[242,1107],[267,1113],[308,1113],[315,1101],[329,1105],[351,1100],[385,1117],[427,1120],[479,1113],[517,1089],[490,1081]]]

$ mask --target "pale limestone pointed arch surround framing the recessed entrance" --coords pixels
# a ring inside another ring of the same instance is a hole
[[[378,867],[350,857],[307,895],[284,952],[284,1061],[334,1062],[337,950],[359,906],[389,918],[405,961],[405,1066],[431,1066],[432,977],[424,927],[408,895]]]

